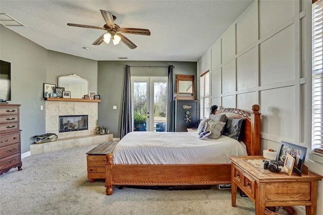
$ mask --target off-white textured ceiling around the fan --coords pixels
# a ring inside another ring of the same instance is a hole
[[[7,28],[48,50],[97,61],[196,62],[252,3],[228,1],[0,1],[0,12],[24,26]],[[99,10],[111,12],[121,28],[145,28],[150,36],[124,34],[138,47],[124,43],[92,43],[104,30]],[[89,50],[83,49],[88,47]]]

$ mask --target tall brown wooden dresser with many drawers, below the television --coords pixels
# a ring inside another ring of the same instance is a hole
[[[15,167],[22,170],[19,106],[0,104],[0,175]]]

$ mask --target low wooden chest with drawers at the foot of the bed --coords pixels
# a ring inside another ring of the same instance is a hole
[[[103,142],[86,152],[87,178],[91,182],[96,179],[105,179],[106,154],[112,153],[118,141]]]

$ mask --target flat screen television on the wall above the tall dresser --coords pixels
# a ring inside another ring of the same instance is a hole
[[[0,60],[0,99],[11,100],[11,63]]]

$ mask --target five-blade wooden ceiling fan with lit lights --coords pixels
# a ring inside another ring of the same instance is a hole
[[[67,23],[68,26],[75,26],[75,27],[82,27],[82,28],[94,28],[94,29],[101,29],[105,30],[106,33],[102,34],[99,38],[97,38],[92,44],[93,45],[99,45],[103,41],[106,43],[110,42],[111,37],[113,38],[113,43],[116,45],[120,41],[125,43],[129,48],[133,49],[136,48],[137,45],[135,45],[133,42],[131,42],[127,37],[122,35],[121,33],[127,33],[127,34],[139,34],[139,35],[150,35],[150,31],[148,29],[143,28],[120,28],[119,25],[115,24],[115,20],[117,17],[115,17],[112,13],[100,10],[101,14],[103,16],[103,19],[105,20],[105,23],[103,27],[98,26],[92,26],[92,25],[82,25],[82,24],[73,24],[73,23]]]

